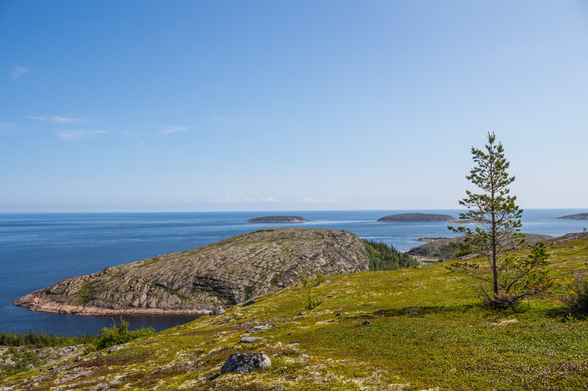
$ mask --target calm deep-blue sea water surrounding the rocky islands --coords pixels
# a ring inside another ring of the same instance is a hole
[[[28,332],[51,329],[55,333],[82,334],[109,326],[103,316],[79,316],[28,311],[11,302],[29,292],[76,275],[138,261],[153,255],[223,240],[243,232],[269,227],[333,228],[383,241],[408,250],[416,237],[450,237],[444,223],[377,223],[389,214],[416,211],[279,211],[216,213],[31,213],[0,214],[0,331]],[[449,214],[458,210],[429,210]],[[525,210],[523,231],[563,235],[580,232],[587,221],[549,220],[585,210]],[[297,224],[243,223],[272,214],[300,215],[310,221]],[[126,317],[131,328],[152,326],[162,330],[195,316],[134,315]]]

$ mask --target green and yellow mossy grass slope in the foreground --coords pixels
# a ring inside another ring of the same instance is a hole
[[[550,246],[553,277],[588,268],[587,243]],[[553,294],[517,310],[481,309],[459,278],[443,264],[333,276],[312,288],[324,301],[306,315],[298,312],[308,289],[298,284],[14,389],[586,389],[587,320],[564,322]],[[268,340],[239,343],[258,323],[276,325],[254,334]],[[236,351],[265,353],[272,366],[218,376]]]

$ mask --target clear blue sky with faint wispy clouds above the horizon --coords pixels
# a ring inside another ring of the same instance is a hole
[[[588,208],[584,1],[0,1],[0,213]]]

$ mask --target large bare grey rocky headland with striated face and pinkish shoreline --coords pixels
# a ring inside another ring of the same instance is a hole
[[[262,230],[68,278],[12,304],[82,315],[208,313],[294,284],[300,273],[353,273],[368,264],[351,232]]]

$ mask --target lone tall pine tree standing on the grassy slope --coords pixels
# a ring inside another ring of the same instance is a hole
[[[540,294],[549,286],[544,270],[549,262],[545,246],[541,243],[527,258],[516,258],[512,251],[524,242],[520,233],[523,210],[516,204],[516,196],[509,195],[509,177],[501,143],[496,144],[494,133],[488,133],[485,150],[472,147],[472,159],[476,167],[466,176],[483,190],[475,194],[466,190],[467,197],[459,203],[468,208],[460,213],[460,219],[475,219],[481,224],[475,231],[467,227],[449,226],[449,230],[465,235],[465,247],[473,254],[486,259],[488,268],[480,268],[480,262],[455,262],[448,269],[462,272],[473,278],[468,282],[483,301],[492,308],[506,308],[525,296]],[[491,286],[491,288],[490,288]]]

